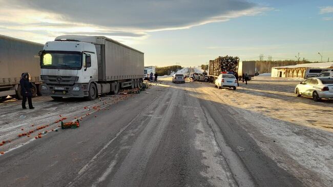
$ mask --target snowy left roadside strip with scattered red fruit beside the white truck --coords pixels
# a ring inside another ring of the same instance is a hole
[[[33,105],[36,107],[34,110],[23,110],[20,105],[21,101],[16,99],[0,102],[0,142],[6,141],[3,146],[0,146],[0,151],[8,151],[17,147],[19,144],[33,139],[38,133],[51,132],[52,129],[54,130],[60,125],[60,122],[55,121],[63,117],[67,118],[65,121],[72,121],[75,117],[84,117],[88,113],[97,115],[92,113],[98,112],[98,109],[103,110],[104,107],[113,107],[113,103],[131,95],[106,95],[92,101],[75,98],[55,101],[51,97],[35,97],[33,98]],[[94,109],[95,106],[99,107]],[[36,130],[42,126],[48,127]],[[18,137],[18,134],[28,133],[32,130],[34,133],[31,133],[30,137]]]

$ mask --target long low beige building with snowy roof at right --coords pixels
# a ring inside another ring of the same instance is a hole
[[[272,77],[299,77],[303,78],[307,69],[333,69],[333,62],[308,63],[293,66],[280,66],[272,68]]]

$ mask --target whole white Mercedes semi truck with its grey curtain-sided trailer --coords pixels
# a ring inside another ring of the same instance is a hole
[[[53,99],[93,100],[143,80],[143,53],[105,36],[58,36],[39,55],[41,95]]]

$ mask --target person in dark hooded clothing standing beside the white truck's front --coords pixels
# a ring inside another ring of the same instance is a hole
[[[26,109],[26,102],[28,99],[28,105],[29,105],[29,109],[34,109],[34,107],[32,106],[32,83],[30,82],[30,75],[29,73],[22,73],[22,78],[19,80],[19,84],[21,86],[21,94],[23,96],[22,99],[22,108]]]

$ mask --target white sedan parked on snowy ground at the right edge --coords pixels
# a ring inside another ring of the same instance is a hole
[[[308,78],[296,86],[295,94],[298,97],[312,96],[314,101],[319,101],[321,98],[333,98],[333,79]]]

